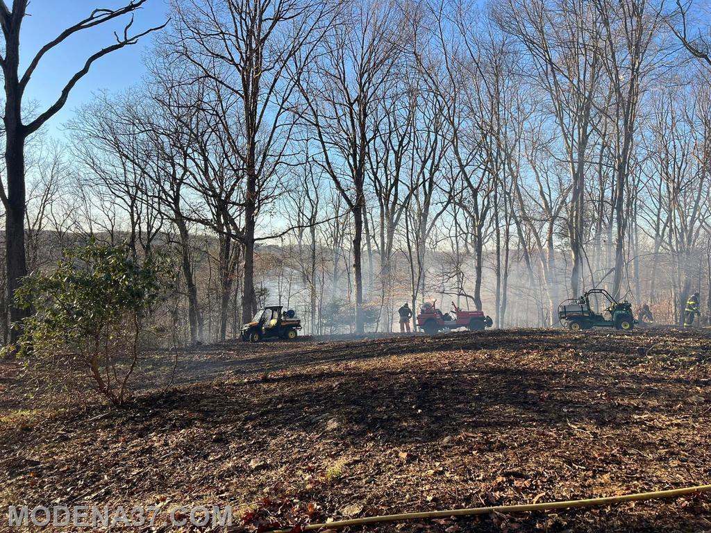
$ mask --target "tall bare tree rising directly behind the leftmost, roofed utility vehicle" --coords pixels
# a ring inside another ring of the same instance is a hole
[[[173,2],[176,53],[239,102],[230,149],[244,173],[243,224],[235,237],[244,248],[242,320],[255,311],[255,227],[260,205],[276,191],[288,156],[289,105],[295,82],[289,67],[308,60],[308,49],[328,26],[328,4],[302,0],[189,0]],[[306,51],[304,51],[306,50]],[[296,68],[296,71],[299,69]],[[232,109],[236,112],[237,109]]]

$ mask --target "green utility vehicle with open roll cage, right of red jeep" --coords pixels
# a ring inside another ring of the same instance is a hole
[[[604,312],[609,313],[609,319],[603,313],[596,313],[590,306],[590,296],[599,294],[605,298],[609,306]],[[573,331],[592,328],[616,328],[631,330],[636,320],[632,315],[632,304],[629,301],[616,301],[604,289],[592,289],[577,299],[564,301],[558,306],[558,320]]]

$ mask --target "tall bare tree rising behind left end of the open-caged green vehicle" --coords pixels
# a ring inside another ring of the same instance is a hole
[[[497,12],[501,27],[527,52],[525,64],[550,105],[560,130],[565,168],[570,176],[567,234],[572,252],[570,288],[579,293],[584,264],[585,176],[590,139],[599,117],[594,104],[603,73],[600,21],[585,2],[508,0]]]

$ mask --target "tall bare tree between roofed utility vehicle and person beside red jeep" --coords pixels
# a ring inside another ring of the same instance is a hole
[[[363,333],[365,180],[378,131],[373,119],[395,72],[395,40],[402,38],[402,29],[392,1],[348,1],[321,43],[318,60],[299,80],[301,116],[321,151],[316,161],[353,215],[356,333]]]

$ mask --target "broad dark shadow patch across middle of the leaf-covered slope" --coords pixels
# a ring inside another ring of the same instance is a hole
[[[158,410],[247,424],[264,438],[330,431],[346,441],[378,438],[400,446],[437,441],[453,429],[575,424],[590,426],[584,431],[624,429],[638,424],[635,417],[642,412],[675,413],[699,385],[695,379],[625,374],[619,368],[605,374],[476,360],[466,367],[328,369],[205,385],[177,394]]]

